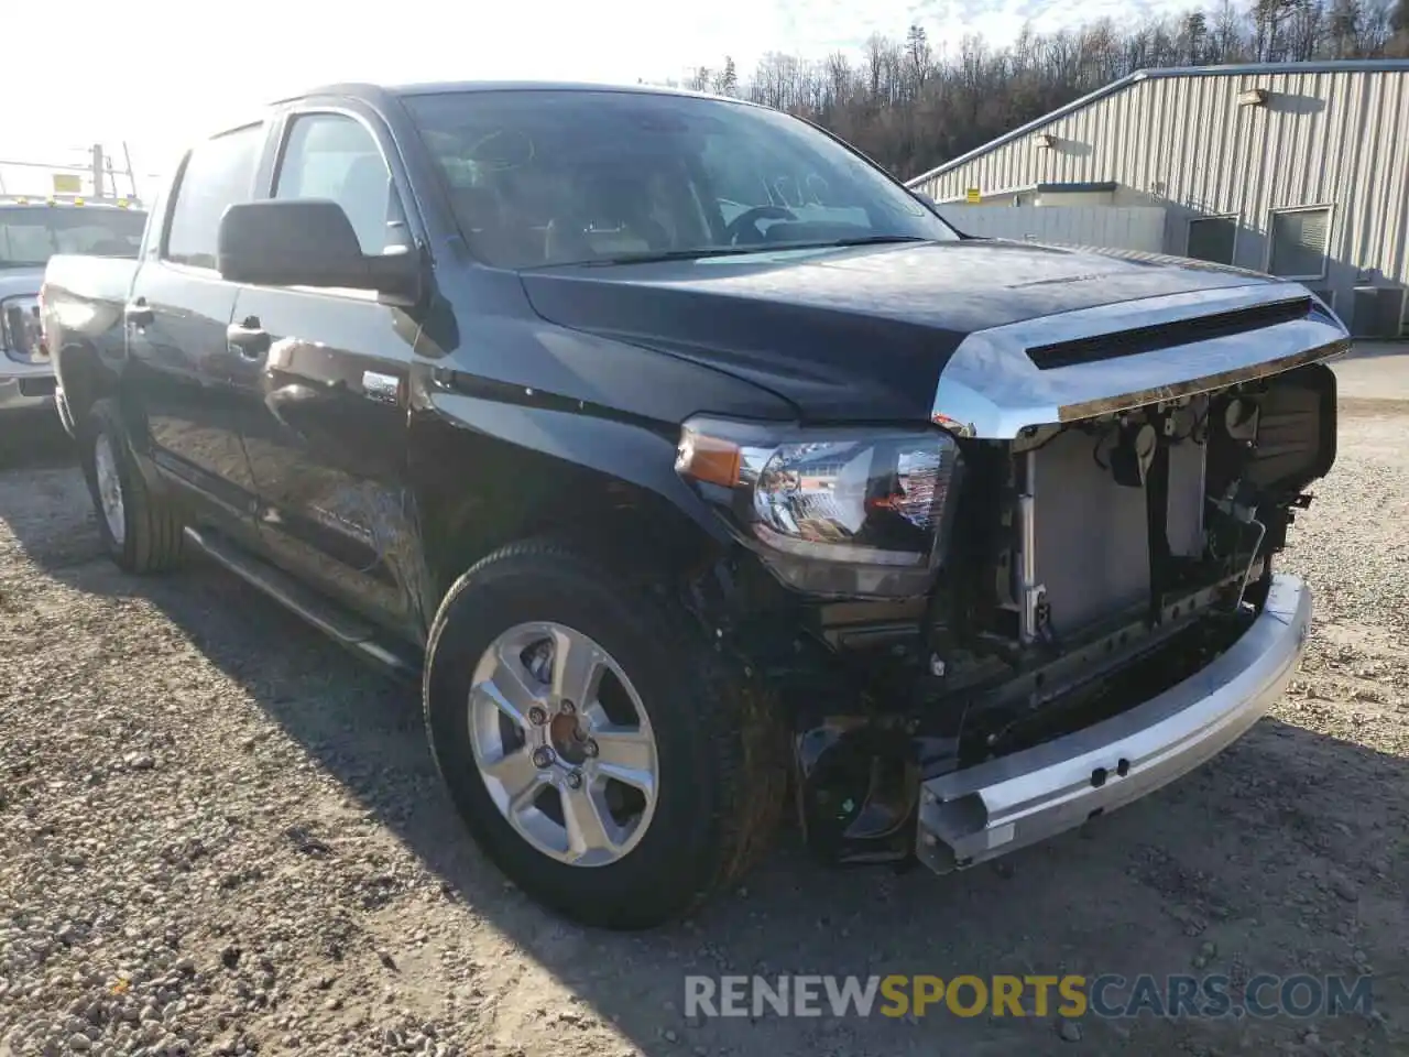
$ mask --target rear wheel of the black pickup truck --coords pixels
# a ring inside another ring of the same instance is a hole
[[[180,512],[170,499],[148,488],[111,399],[96,400],[89,409],[79,445],[99,537],[108,557],[138,575],[175,568],[185,543]]]

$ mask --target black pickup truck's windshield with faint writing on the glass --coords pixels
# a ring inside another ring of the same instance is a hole
[[[465,238],[503,268],[958,238],[864,158],[776,110],[610,90],[406,106]]]

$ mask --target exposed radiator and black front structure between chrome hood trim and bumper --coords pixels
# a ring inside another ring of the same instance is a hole
[[[789,684],[799,815],[831,861],[909,861],[923,781],[1117,715],[1226,650],[1336,458],[1336,379],[1310,364],[962,455],[934,591],[820,607],[831,650]]]

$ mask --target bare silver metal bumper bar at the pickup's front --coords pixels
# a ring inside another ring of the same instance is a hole
[[[936,872],[1079,826],[1192,771],[1236,741],[1291,681],[1310,589],[1277,575],[1262,613],[1206,668],[1119,716],[924,782],[916,854]]]

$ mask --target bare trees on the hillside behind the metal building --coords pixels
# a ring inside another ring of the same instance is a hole
[[[771,52],[744,76],[724,58],[686,86],[807,117],[910,178],[1138,69],[1398,56],[1409,56],[1409,0],[1223,0],[1140,24],[1024,30],[1000,48],[912,25],[872,37],[859,58]]]

